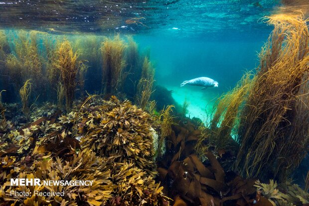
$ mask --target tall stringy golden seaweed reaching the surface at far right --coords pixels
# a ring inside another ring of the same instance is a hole
[[[309,31],[302,15],[267,17],[274,25],[239,120],[236,168],[246,177],[285,182],[309,145]]]

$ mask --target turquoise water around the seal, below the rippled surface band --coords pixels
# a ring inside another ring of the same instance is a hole
[[[258,66],[257,54],[268,35],[265,32],[246,36],[235,32],[220,37],[136,35],[135,39],[142,48],[151,48],[157,83],[172,90],[179,104],[184,100],[189,102],[187,116],[205,120],[206,111],[211,112],[215,99],[233,88],[245,71]],[[206,90],[180,87],[184,80],[200,76],[218,81],[219,87]]]

